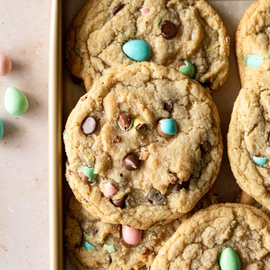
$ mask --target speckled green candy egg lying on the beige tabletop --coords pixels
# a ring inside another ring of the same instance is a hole
[[[6,89],[4,104],[6,110],[13,115],[22,115],[28,108],[26,95],[15,87],[8,87]]]

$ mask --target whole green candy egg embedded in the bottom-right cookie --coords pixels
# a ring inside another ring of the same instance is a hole
[[[219,258],[220,270],[241,270],[241,261],[232,247],[225,248]]]

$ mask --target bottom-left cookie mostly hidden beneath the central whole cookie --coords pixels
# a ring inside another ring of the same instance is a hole
[[[192,213],[214,203],[217,203],[217,199],[210,189]],[[125,242],[121,225],[97,220],[82,208],[75,196],[72,196],[65,228],[69,257],[79,270],[146,269],[152,264],[162,244],[192,213],[166,225],[138,230],[140,241],[133,245]]]

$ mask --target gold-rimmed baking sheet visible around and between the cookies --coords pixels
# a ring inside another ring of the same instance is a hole
[[[71,81],[65,59],[63,59],[62,64],[61,56],[64,53],[62,38],[64,41],[72,19],[84,2],[85,0],[65,0],[61,7],[61,0],[52,0],[49,64],[50,270],[75,269],[69,262],[63,248],[62,226],[71,190],[66,180],[62,179],[62,161],[65,162],[66,159],[64,151],[62,151],[62,131],[70,111],[75,107],[85,91],[81,86],[75,85]],[[227,34],[231,38],[228,80],[212,96],[219,112],[224,144],[223,160],[216,181],[220,194],[219,202],[234,202],[235,196],[240,189],[229,165],[226,136],[233,104],[240,91],[240,79],[234,49],[235,33],[246,8],[254,0],[209,0],[208,2],[222,18],[227,28]],[[61,23],[63,24],[63,35],[61,33]],[[63,256],[62,252],[64,252]]]

